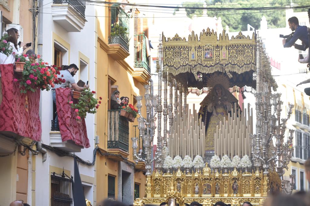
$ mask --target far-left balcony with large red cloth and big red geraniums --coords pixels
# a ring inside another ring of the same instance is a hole
[[[4,43],[3,40],[1,42]],[[2,53],[6,55],[7,52],[10,53],[5,47],[3,48]],[[39,55],[38,62],[27,55],[18,56],[16,59],[17,66],[14,64],[0,65],[2,76],[0,153],[2,151],[13,152],[14,141],[21,141],[24,138],[31,141],[41,140],[40,90],[50,90],[54,84],[62,81],[57,78],[59,69],[48,66],[48,63],[44,62]]]

